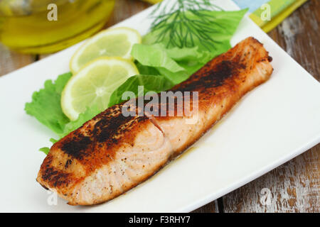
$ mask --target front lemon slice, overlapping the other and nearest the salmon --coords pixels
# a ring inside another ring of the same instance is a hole
[[[136,74],[139,71],[130,60],[97,58],[82,67],[65,85],[61,96],[63,113],[75,121],[87,107],[97,105],[99,109],[106,109],[112,92]]]

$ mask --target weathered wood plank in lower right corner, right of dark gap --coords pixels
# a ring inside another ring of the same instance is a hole
[[[312,148],[223,196],[225,212],[319,212],[319,151]]]

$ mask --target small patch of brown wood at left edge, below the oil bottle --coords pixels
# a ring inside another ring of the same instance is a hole
[[[0,44],[0,77],[4,74],[18,70],[34,62],[33,55],[23,55],[13,52]]]

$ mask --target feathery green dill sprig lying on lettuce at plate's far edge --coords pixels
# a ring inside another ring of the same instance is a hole
[[[164,43],[166,48],[192,48],[197,41],[207,50],[216,50],[215,45],[220,42],[214,40],[212,33],[221,27],[208,11],[223,9],[210,0],[176,0],[173,4],[162,1],[151,12],[151,32],[158,34],[155,43]]]

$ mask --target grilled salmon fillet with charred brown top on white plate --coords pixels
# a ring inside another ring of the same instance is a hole
[[[160,102],[153,111],[144,109],[136,116],[122,114],[125,104],[110,107],[53,145],[37,181],[70,205],[100,204],[127,192],[201,138],[243,95],[267,81],[273,71],[271,60],[255,38],[215,57],[170,90],[191,92],[188,98],[197,105],[191,105],[196,107],[188,114],[179,113],[177,101],[168,108]],[[194,92],[198,99],[193,99]],[[156,109],[166,114],[156,115]],[[172,109],[174,115],[169,114]]]

